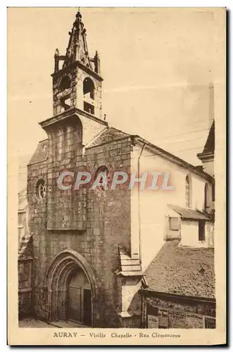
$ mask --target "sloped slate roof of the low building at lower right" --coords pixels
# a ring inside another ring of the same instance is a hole
[[[146,291],[215,298],[214,250],[166,241],[146,269]]]

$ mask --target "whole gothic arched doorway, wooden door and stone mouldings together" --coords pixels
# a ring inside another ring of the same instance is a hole
[[[75,320],[95,326],[98,288],[92,267],[80,253],[63,251],[46,275],[49,321]]]

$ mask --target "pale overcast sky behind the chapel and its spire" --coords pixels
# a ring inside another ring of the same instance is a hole
[[[56,48],[65,54],[76,12],[8,10],[8,114],[17,131],[22,182],[23,163],[46,138],[38,122],[52,115],[53,56]],[[196,153],[210,123],[208,86],[221,84],[220,11],[81,8],[81,13],[89,54],[97,49],[101,57],[109,124],[200,164]]]

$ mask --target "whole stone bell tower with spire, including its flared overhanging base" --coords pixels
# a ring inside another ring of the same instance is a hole
[[[53,115],[39,122],[51,141],[49,144],[51,156],[54,153],[51,145],[55,144],[54,135],[58,134],[58,127],[62,127],[64,140],[66,133],[64,131],[68,127],[71,128],[70,125],[79,130],[79,135],[82,135],[80,150],[82,149],[83,153],[84,146],[108,127],[108,122],[101,117],[103,78],[100,73],[99,54],[96,51],[93,58],[89,56],[87,32],[80,11],[75,16],[69,36],[65,55],[61,55],[58,49],[54,54],[54,72],[51,74]]]

